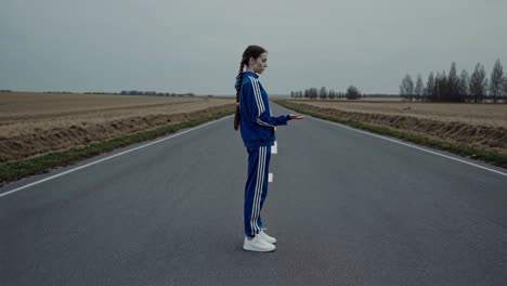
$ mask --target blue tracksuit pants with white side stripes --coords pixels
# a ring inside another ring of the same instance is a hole
[[[255,236],[261,231],[260,212],[268,195],[268,173],[271,146],[248,147],[248,179],[245,186],[245,234]]]

